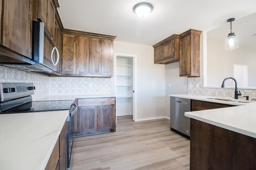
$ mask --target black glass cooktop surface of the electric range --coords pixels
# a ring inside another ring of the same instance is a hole
[[[33,101],[10,109],[6,113],[69,110],[72,104],[72,100]]]

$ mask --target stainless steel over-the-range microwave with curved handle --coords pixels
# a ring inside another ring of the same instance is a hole
[[[59,74],[57,64],[59,52],[52,35],[43,22],[33,21],[32,32],[32,59],[29,63],[24,61],[1,62],[1,65],[16,68],[28,72]]]

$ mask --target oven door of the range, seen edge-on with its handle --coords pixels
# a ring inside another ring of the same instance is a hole
[[[77,105],[74,103],[72,108],[70,109],[70,113],[69,113],[69,117],[68,117],[68,133],[67,133],[67,164],[68,164],[68,169],[69,169],[69,166],[70,166],[72,147],[73,147],[73,141],[74,141],[74,137],[70,137],[70,129],[73,129],[70,119],[72,119],[73,116],[76,115],[77,108],[78,108]]]

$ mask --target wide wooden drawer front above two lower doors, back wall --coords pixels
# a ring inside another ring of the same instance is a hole
[[[78,99],[78,106],[115,105],[115,98],[88,98]]]

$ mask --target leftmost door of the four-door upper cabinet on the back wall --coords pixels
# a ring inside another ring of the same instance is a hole
[[[62,73],[76,74],[76,35],[63,34]]]

